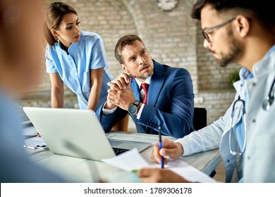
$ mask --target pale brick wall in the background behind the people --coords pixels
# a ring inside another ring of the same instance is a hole
[[[51,2],[49,0],[47,3]],[[190,18],[193,0],[179,0],[171,12],[157,8],[152,0],[66,0],[78,12],[82,30],[102,36],[109,70],[114,77],[121,68],[114,58],[114,46],[124,34],[138,34],[159,63],[189,70],[195,91],[195,106],[207,108],[208,122],[222,115],[233,100],[229,78],[237,66],[219,68],[212,54],[202,46],[200,23]],[[44,57],[42,57],[44,67]],[[27,94],[22,106],[50,106],[49,75],[43,74],[38,90]],[[78,108],[75,96],[66,89],[65,105]],[[218,104],[217,104],[218,103]],[[134,128],[130,122],[130,129]]]

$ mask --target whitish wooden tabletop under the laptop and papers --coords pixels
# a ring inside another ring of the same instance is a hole
[[[131,132],[110,132],[106,135],[109,139],[125,139],[128,141],[145,141],[155,144],[158,141],[157,135],[139,134]],[[175,140],[169,136],[163,138]],[[37,151],[27,149],[30,159],[35,163],[54,171],[63,177],[66,182],[140,182],[134,173],[120,170],[114,166],[108,165],[94,160],[82,158],[74,158],[65,155],[57,155],[51,151]],[[142,151],[141,155],[149,163],[153,163],[151,159],[152,146]],[[198,170],[210,174],[220,162],[219,149],[197,153],[190,156],[181,157],[189,165]]]

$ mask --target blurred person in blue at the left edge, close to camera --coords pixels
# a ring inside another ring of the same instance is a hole
[[[0,182],[63,182],[35,165],[23,148],[13,101],[38,84],[42,49],[42,4],[0,1]],[[41,49],[41,50],[39,50]]]

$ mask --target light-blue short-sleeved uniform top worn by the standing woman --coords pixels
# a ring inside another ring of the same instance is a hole
[[[78,96],[80,109],[87,108],[92,87],[90,70],[104,68],[102,90],[97,108],[106,101],[108,82],[114,80],[108,70],[104,44],[99,34],[80,32],[80,41],[71,44],[68,53],[61,49],[59,42],[46,48],[48,73],[59,73],[61,80]]]

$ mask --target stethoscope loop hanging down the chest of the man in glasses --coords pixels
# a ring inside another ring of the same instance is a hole
[[[244,131],[244,137],[243,137],[243,143],[238,143],[237,141],[237,130],[236,130],[236,126],[235,128],[233,128],[233,117],[235,115],[235,112],[236,112],[236,103],[240,102],[241,105],[241,111],[243,113],[243,131]],[[243,153],[245,152],[245,146],[246,146],[246,117],[245,117],[245,101],[243,101],[242,99],[240,99],[240,96],[238,97],[238,99],[236,101],[234,101],[233,103],[233,108],[232,108],[232,113],[231,113],[231,121],[230,121],[230,130],[229,130],[229,151],[231,153],[231,155],[234,155],[234,156],[240,156],[240,155],[243,155]],[[232,141],[231,141],[231,135],[233,134],[233,139],[234,139],[234,144],[236,146],[236,151],[233,151],[232,149]],[[238,144],[243,144],[243,147],[242,148],[238,148]],[[240,150],[240,151],[238,151]]]

